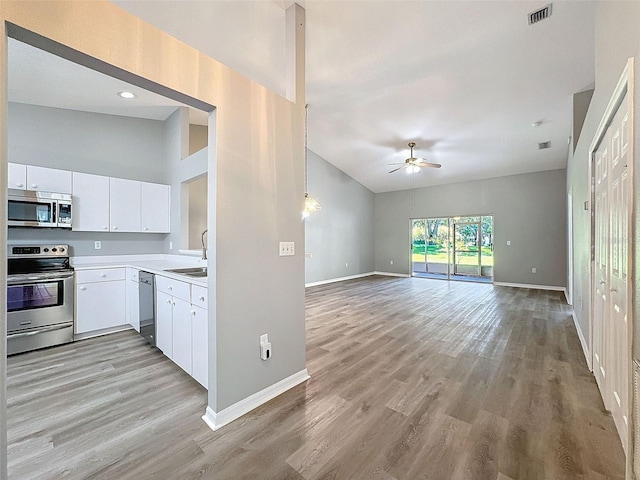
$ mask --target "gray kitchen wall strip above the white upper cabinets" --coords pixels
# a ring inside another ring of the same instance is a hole
[[[164,122],[9,103],[9,161],[163,183]]]

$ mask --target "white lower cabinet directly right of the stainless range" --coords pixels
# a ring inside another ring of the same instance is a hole
[[[76,334],[126,324],[125,269],[76,272]]]

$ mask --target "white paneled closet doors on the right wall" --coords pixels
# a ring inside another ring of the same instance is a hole
[[[625,95],[594,156],[593,368],[627,451],[631,351],[629,303],[629,113]]]

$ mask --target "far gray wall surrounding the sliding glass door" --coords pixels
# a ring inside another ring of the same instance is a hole
[[[412,218],[492,214],[495,281],[564,287],[565,185],[551,170],[376,194],[375,269],[411,272]]]

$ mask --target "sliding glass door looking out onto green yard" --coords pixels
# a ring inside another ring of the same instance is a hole
[[[411,274],[493,282],[493,215],[411,220]]]

